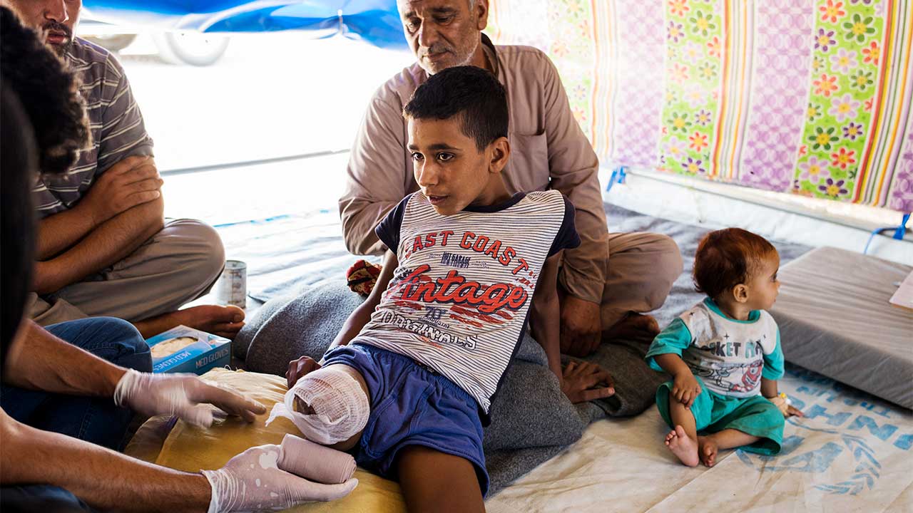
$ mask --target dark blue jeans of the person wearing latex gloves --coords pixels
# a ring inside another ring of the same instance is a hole
[[[46,330],[62,340],[121,367],[152,372],[152,354],[140,332],[126,320],[109,317],[70,320]],[[110,397],[79,397],[0,386],[0,407],[17,421],[119,450],[133,413]],[[26,485],[0,488],[4,511],[91,511],[60,487]]]

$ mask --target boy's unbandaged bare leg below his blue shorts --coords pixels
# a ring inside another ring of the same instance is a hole
[[[411,512],[485,511],[476,468],[466,458],[410,445],[400,452],[397,470]]]

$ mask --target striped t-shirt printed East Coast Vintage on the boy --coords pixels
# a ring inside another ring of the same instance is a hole
[[[375,230],[394,272],[352,343],[394,351],[439,372],[488,414],[519,346],[546,258],[580,245],[573,205],[558,191],[439,215],[406,196]]]

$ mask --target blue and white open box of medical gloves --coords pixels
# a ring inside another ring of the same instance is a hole
[[[203,374],[231,363],[231,340],[178,326],[149,340],[152,372],[193,372]]]

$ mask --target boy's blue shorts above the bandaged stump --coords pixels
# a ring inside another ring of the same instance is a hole
[[[400,449],[424,445],[469,460],[482,496],[488,493],[482,423],[471,395],[407,356],[366,344],[332,349],[323,361],[352,367],[368,385],[371,414],[355,453],[359,465],[395,476]]]

